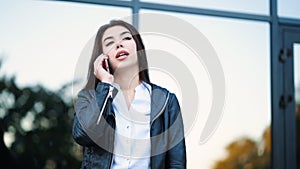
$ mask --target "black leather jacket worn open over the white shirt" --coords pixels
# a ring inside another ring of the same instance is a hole
[[[151,169],[186,168],[184,128],[178,100],[167,89],[151,86]],[[78,94],[73,138],[85,147],[81,168],[111,168],[116,125],[111,89],[111,85],[100,82],[96,90],[81,90]]]

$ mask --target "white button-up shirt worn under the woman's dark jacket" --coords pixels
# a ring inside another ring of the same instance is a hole
[[[118,84],[112,106],[116,116],[113,169],[149,169],[151,86],[142,82],[135,88],[130,108]]]

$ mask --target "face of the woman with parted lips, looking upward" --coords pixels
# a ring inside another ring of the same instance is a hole
[[[136,43],[130,31],[123,26],[112,26],[105,30],[102,49],[103,54],[108,55],[114,71],[138,65]]]

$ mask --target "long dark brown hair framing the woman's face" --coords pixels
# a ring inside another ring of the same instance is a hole
[[[103,33],[110,27],[113,26],[123,26],[128,29],[136,43],[137,56],[138,56],[138,65],[139,65],[139,80],[144,81],[150,84],[149,72],[148,72],[148,61],[146,57],[145,47],[142,41],[142,38],[139,32],[131,24],[124,22],[122,20],[112,20],[108,24],[101,26],[97,32],[92,57],[89,63],[87,83],[85,89],[95,89],[99,79],[94,75],[94,61],[96,58],[103,53],[102,49],[102,36]],[[111,68],[111,66],[110,66]],[[113,74],[113,70],[110,69],[110,72]]]

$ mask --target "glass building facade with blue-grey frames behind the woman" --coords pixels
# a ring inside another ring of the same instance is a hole
[[[126,20],[141,33],[151,81],[182,106],[188,168],[299,169],[299,1],[0,4],[0,54],[8,55],[1,74],[16,74],[21,86],[56,90],[84,77],[98,28]],[[47,78],[32,73],[53,67]]]

